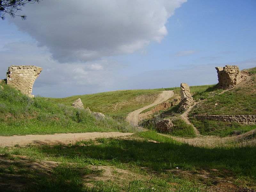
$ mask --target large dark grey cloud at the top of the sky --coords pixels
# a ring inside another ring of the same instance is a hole
[[[88,61],[132,53],[160,42],[165,24],[186,0],[44,0],[26,5],[21,31],[46,46],[60,62]]]

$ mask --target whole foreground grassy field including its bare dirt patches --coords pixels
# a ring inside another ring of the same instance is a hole
[[[130,139],[0,148],[0,153],[0,178],[23,191],[203,192],[217,190],[223,180],[236,186],[226,191],[238,191],[256,182],[253,147],[199,148],[152,131]]]

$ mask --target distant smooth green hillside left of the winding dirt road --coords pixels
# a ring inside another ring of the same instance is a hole
[[[54,103],[71,104],[81,98],[84,107],[109,116],[126,117],[128,113],[153,103],[161,89],[124,90],[102,92],[89,95],[76,95],[67,98],[47,98]]]

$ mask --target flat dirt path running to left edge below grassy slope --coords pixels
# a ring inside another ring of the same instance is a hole
[[[28,144],[56,144],[75,143],[81,140],[95,140],[96,138],[124,137],[133,133],[120,132],[91,132],[91,133],[58,133],[53,135],[22,135],[0,136],[0,147],[12,147],[14,145],[25,146]]]

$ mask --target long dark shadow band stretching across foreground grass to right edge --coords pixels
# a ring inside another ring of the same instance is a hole
[[[145,140],[99,139],[97,143],[81,146],[83,142],[80,142],[66,146],[65,149],[60,146],[44,146],[40,151],[56,158],[95,165],[121,166],[126,163],[128,166],[148,167],[160,172],[175,167],[183,170],[218,169],[224,171],[225,176],[230,174],[256,179],[256,149],[253,147],[199,148],[150,131],[139,134]]]

